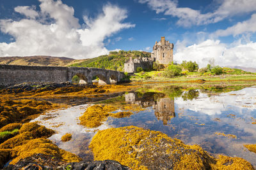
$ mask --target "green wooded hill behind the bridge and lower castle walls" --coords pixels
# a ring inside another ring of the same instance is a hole
[[[140,51],[124,51],[110,52],[109,55],[100,55],[93,59],[82,60],[81,62],[75,62],[68,66],[72,67],[95,67],[102,69],[112,69],[116,71],[124,71],[125,60],[132,57],[151,57],[150,52],[140,52]]]

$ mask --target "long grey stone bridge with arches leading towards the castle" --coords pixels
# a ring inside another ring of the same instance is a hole
[[[99,77],[99,85],[122,81],[124,72],[88,67],[51,67],[0,65],[0,85],[8,86],[24,82],[71,81],[77,75],[81,83],[92,84],[92,78]]]

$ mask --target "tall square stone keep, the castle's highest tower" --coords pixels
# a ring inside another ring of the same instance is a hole
[[[166,41],[164,36],[161,41],[155,43],[151,57],[159,64],[170,64],[173,62],[173,43]]]

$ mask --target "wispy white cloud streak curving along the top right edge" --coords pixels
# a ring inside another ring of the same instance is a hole
[[[234,15],[241,15],[256,11],[255,0],[223,0],[215,11],[201,13],[199,10],[178,7],[177,0],[138,0],[147,3],[156,13],[164,13],[178,17],[178,25],[189,27],[191,25],[204,25],[219,22]]]

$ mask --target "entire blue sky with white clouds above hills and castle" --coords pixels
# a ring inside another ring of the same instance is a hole
[[[256,0],[0,1],[1,57],[152,52],[161,36],[178,63],[256,67]]]

